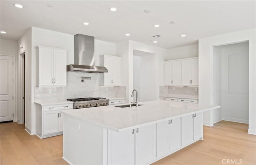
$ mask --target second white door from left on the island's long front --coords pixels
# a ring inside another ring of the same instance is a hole
[[[156,125],[140,127],[135,131],[135,164],[148,164],[156,159]]]

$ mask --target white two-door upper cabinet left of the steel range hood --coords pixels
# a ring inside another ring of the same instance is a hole
[[[38,86],[66,86],[67,51],[37,46]]]

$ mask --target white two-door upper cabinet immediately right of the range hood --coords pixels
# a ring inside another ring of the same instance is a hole
[[[108,69],[108,72],[102,75],[101,85],[121,84],[121,57],[101,55],[100,66]]]

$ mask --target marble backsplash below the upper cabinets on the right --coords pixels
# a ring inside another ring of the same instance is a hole
[[[173,90],[173,87],[175,88]],[[195,91],[196,88],[196,91]],[[160,86],[160,97],[181,97],[198,99],[198,87]]]

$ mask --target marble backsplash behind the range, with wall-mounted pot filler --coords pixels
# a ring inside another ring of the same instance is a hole
[[[82,76],[92,79],[81,82]],[[67,72],[66,87],[34,88],[34,100],[66,100],[83,97],[123,98],[126,97],[126,87],[113,86],[106,90],[106,87],[100,86],[100,74]]]

